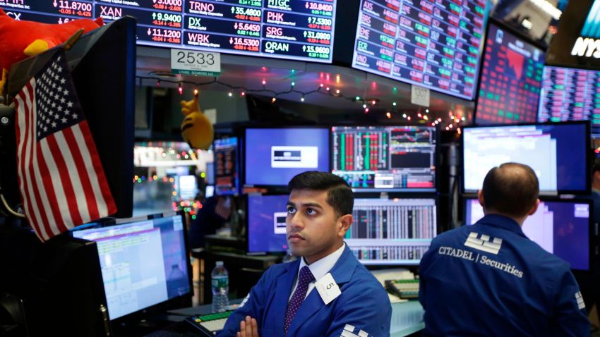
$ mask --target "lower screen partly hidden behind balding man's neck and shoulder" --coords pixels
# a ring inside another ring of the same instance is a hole
[[[590,200],[542,200],[537,212],[528,216],[522,230],[544,250],[564,259],[571,269],[589,270],[594,265],[594,207]],[[464,199],[464,224],[484,217],[476,198]]]

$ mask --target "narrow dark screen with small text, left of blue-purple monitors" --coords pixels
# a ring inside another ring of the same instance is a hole
[[[237,137],[217,139],[215,152],[215,194],[237,195],[239,192],[239,143]]]

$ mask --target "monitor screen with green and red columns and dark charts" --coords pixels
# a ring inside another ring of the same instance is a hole
[[[428,126],[332,127],[332,173],[356,192],[436,190],[437,131]]]

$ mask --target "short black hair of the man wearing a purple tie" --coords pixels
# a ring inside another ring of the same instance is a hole
[[[352,214],[354,193],[346,180],[328,172],[306,171],[300,173],[287,184],[292,190],[327,191],[327,202],[333,207],[335,216]]]

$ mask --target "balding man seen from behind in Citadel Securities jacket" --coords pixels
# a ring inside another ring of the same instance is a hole
[[[488,172],[478,195],[484,218],[438,235],[421,259],[423,336],[589,336],[569,265],[521,230],[538,195],[529,166]]]

